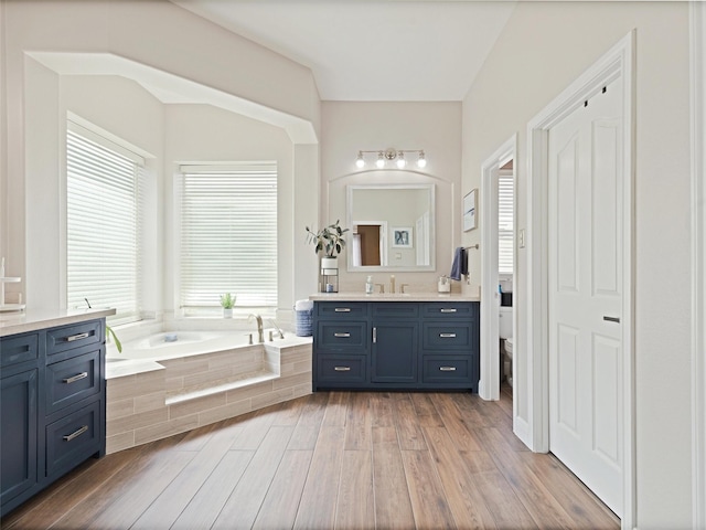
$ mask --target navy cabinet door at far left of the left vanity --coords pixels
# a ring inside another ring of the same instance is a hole
[[[0,505],[38,483],[38,369],[32,369],[0,381]]]

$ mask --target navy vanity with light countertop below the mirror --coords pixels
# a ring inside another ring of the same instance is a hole
[[[462,295],[317,294],[313,391],[478,392],[480,301]]]

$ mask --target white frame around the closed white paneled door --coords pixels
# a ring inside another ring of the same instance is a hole
[[[549,340],[548,340],[548,130],[584,105],[609,82],[622,78],[623,104],[623,250],[622,284],[622,373],[623,373],[623,515],[622,528],[635,521],[635,412],[634,412],[634,50],[631,31],[581,74],[527,124],[527,267],[526,300],[522,314],[526,336],[522,351],[527,353],[526,436],[521,438],[534,452],[549,451]],[[518,434],[520,435],[520,434]]]

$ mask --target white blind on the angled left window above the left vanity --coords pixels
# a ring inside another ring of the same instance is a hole
[[[145,160],[68,121],[67,307],[113,307],[111,324],[140,317],[140,180]]]

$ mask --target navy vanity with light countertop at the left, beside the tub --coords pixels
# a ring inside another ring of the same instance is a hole
[[[106,451],[105,317],[115,309],[0,318],[0,516]]]

